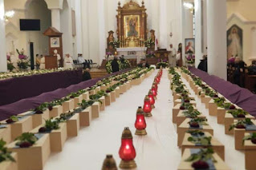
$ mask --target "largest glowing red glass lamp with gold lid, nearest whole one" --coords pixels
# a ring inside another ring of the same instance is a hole
[[[132,144],[132,132],[129,128],[124,128],[119,156],[122,159],[119,165],[120,168],[133,169],[137,167],[136,162],[134,161],[136,151]]]

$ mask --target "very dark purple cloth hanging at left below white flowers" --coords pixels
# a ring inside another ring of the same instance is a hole
[[[51,92],[82,81],[82,70],[43,73],[0,81],[0,106]]]

